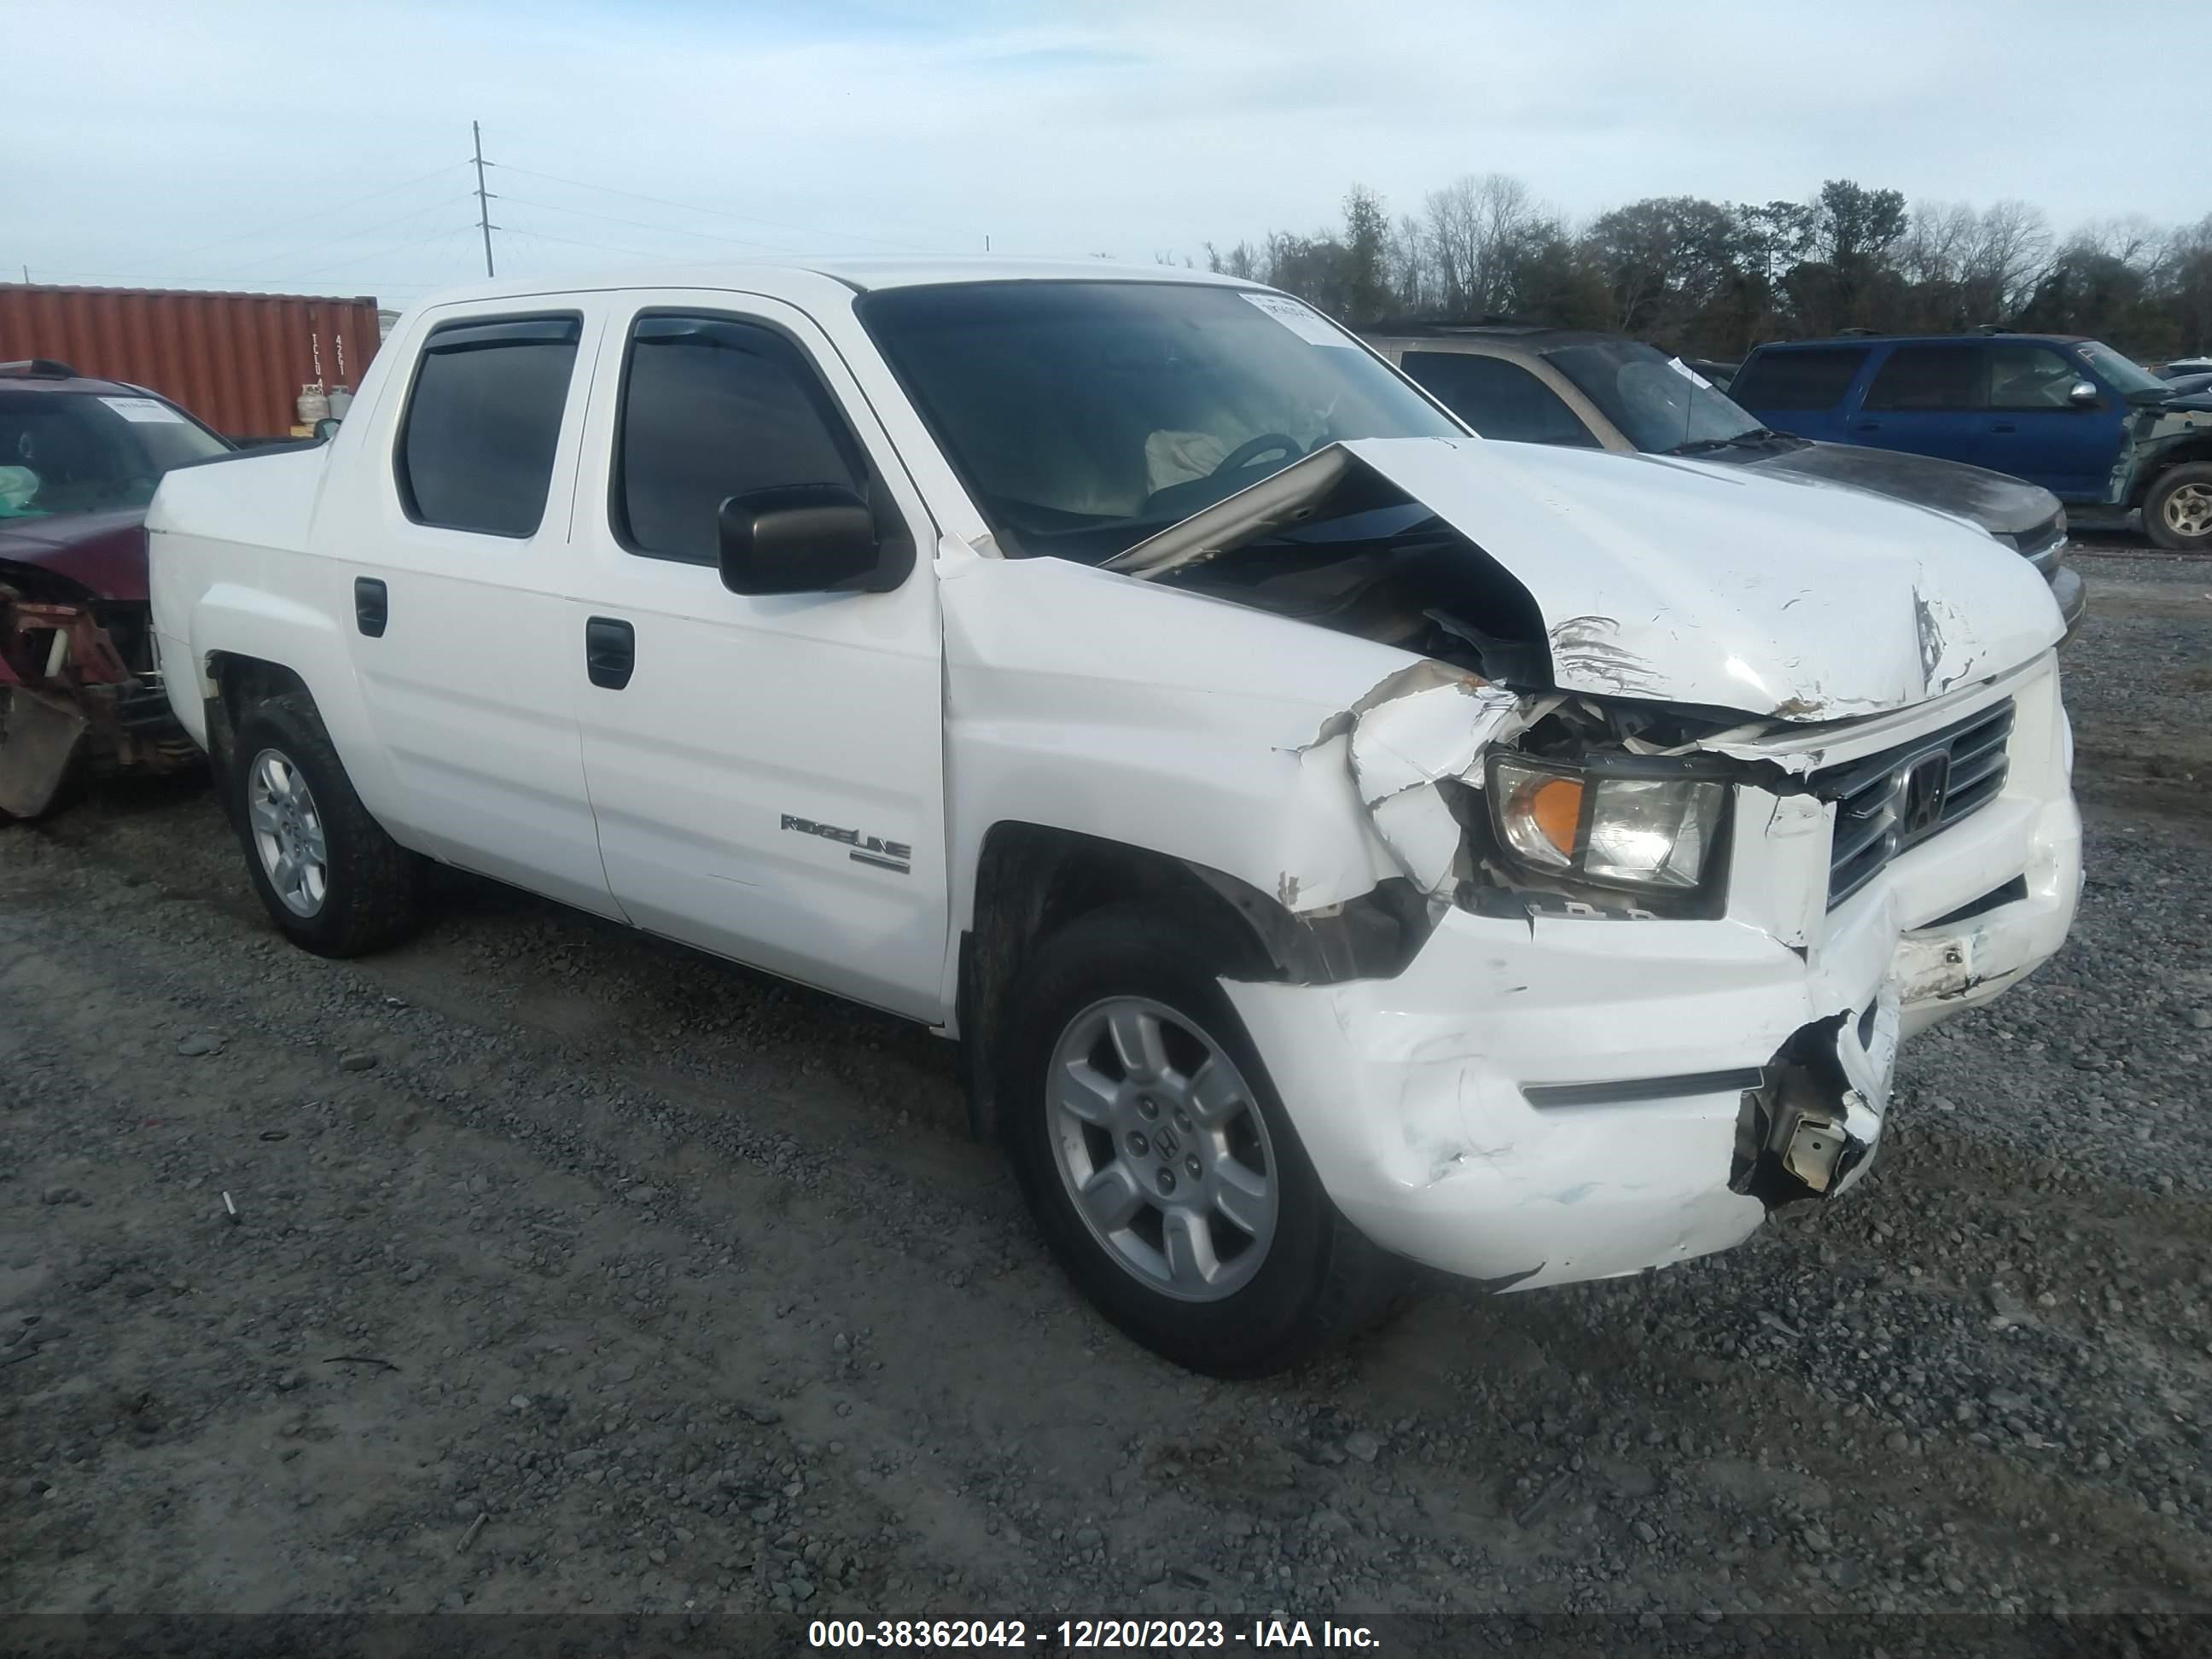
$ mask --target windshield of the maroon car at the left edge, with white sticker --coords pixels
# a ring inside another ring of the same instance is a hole
[[[228,449],[159,398],[0,392],[0,518],[144,507],[170,467]]]

